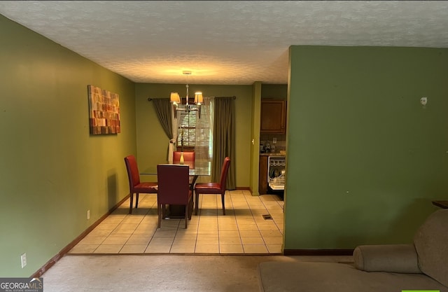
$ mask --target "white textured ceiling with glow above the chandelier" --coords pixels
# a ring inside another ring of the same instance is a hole
[[[291,45],[448,48],[448,1],[0,1],[0,13],[139,83],[286,84]]]

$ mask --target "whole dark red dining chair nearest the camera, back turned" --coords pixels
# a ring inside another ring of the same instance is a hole
[[[193,191],[188,186],[188,165],[158,165],[157,166],[157,211],[158,228],[162,217],[165,217],[165,205],[185,205],[185,228],[193,213]]]

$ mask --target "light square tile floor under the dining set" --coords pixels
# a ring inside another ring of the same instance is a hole
[[[157,228],[157,195],[141,194],[139,209],[129,199],[99,223],[69,253],[279,254],[283,243],[283,199],[253,196],[249,190],[200,195],[200,213],[188,221],[162,220]],[[270,215],[265,219],[263,215]]]

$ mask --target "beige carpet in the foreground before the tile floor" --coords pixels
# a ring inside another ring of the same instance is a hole
[[[258,263],[347,262],[351,256],[67,255],[45,272],[45,292],[256,292]]]

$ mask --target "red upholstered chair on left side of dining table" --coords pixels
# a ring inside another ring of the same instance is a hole
[[[134,200],[134,193],[136,194],[135,209],[139,207],[139,193],[154,194],[157,193],[157,182],[141,182],[139,167],[134,155],[125,157],[125,164],[127,169],[127,178],[129,179],[130,192],[130,207],[129,214],[132,213],[132,201]]]

